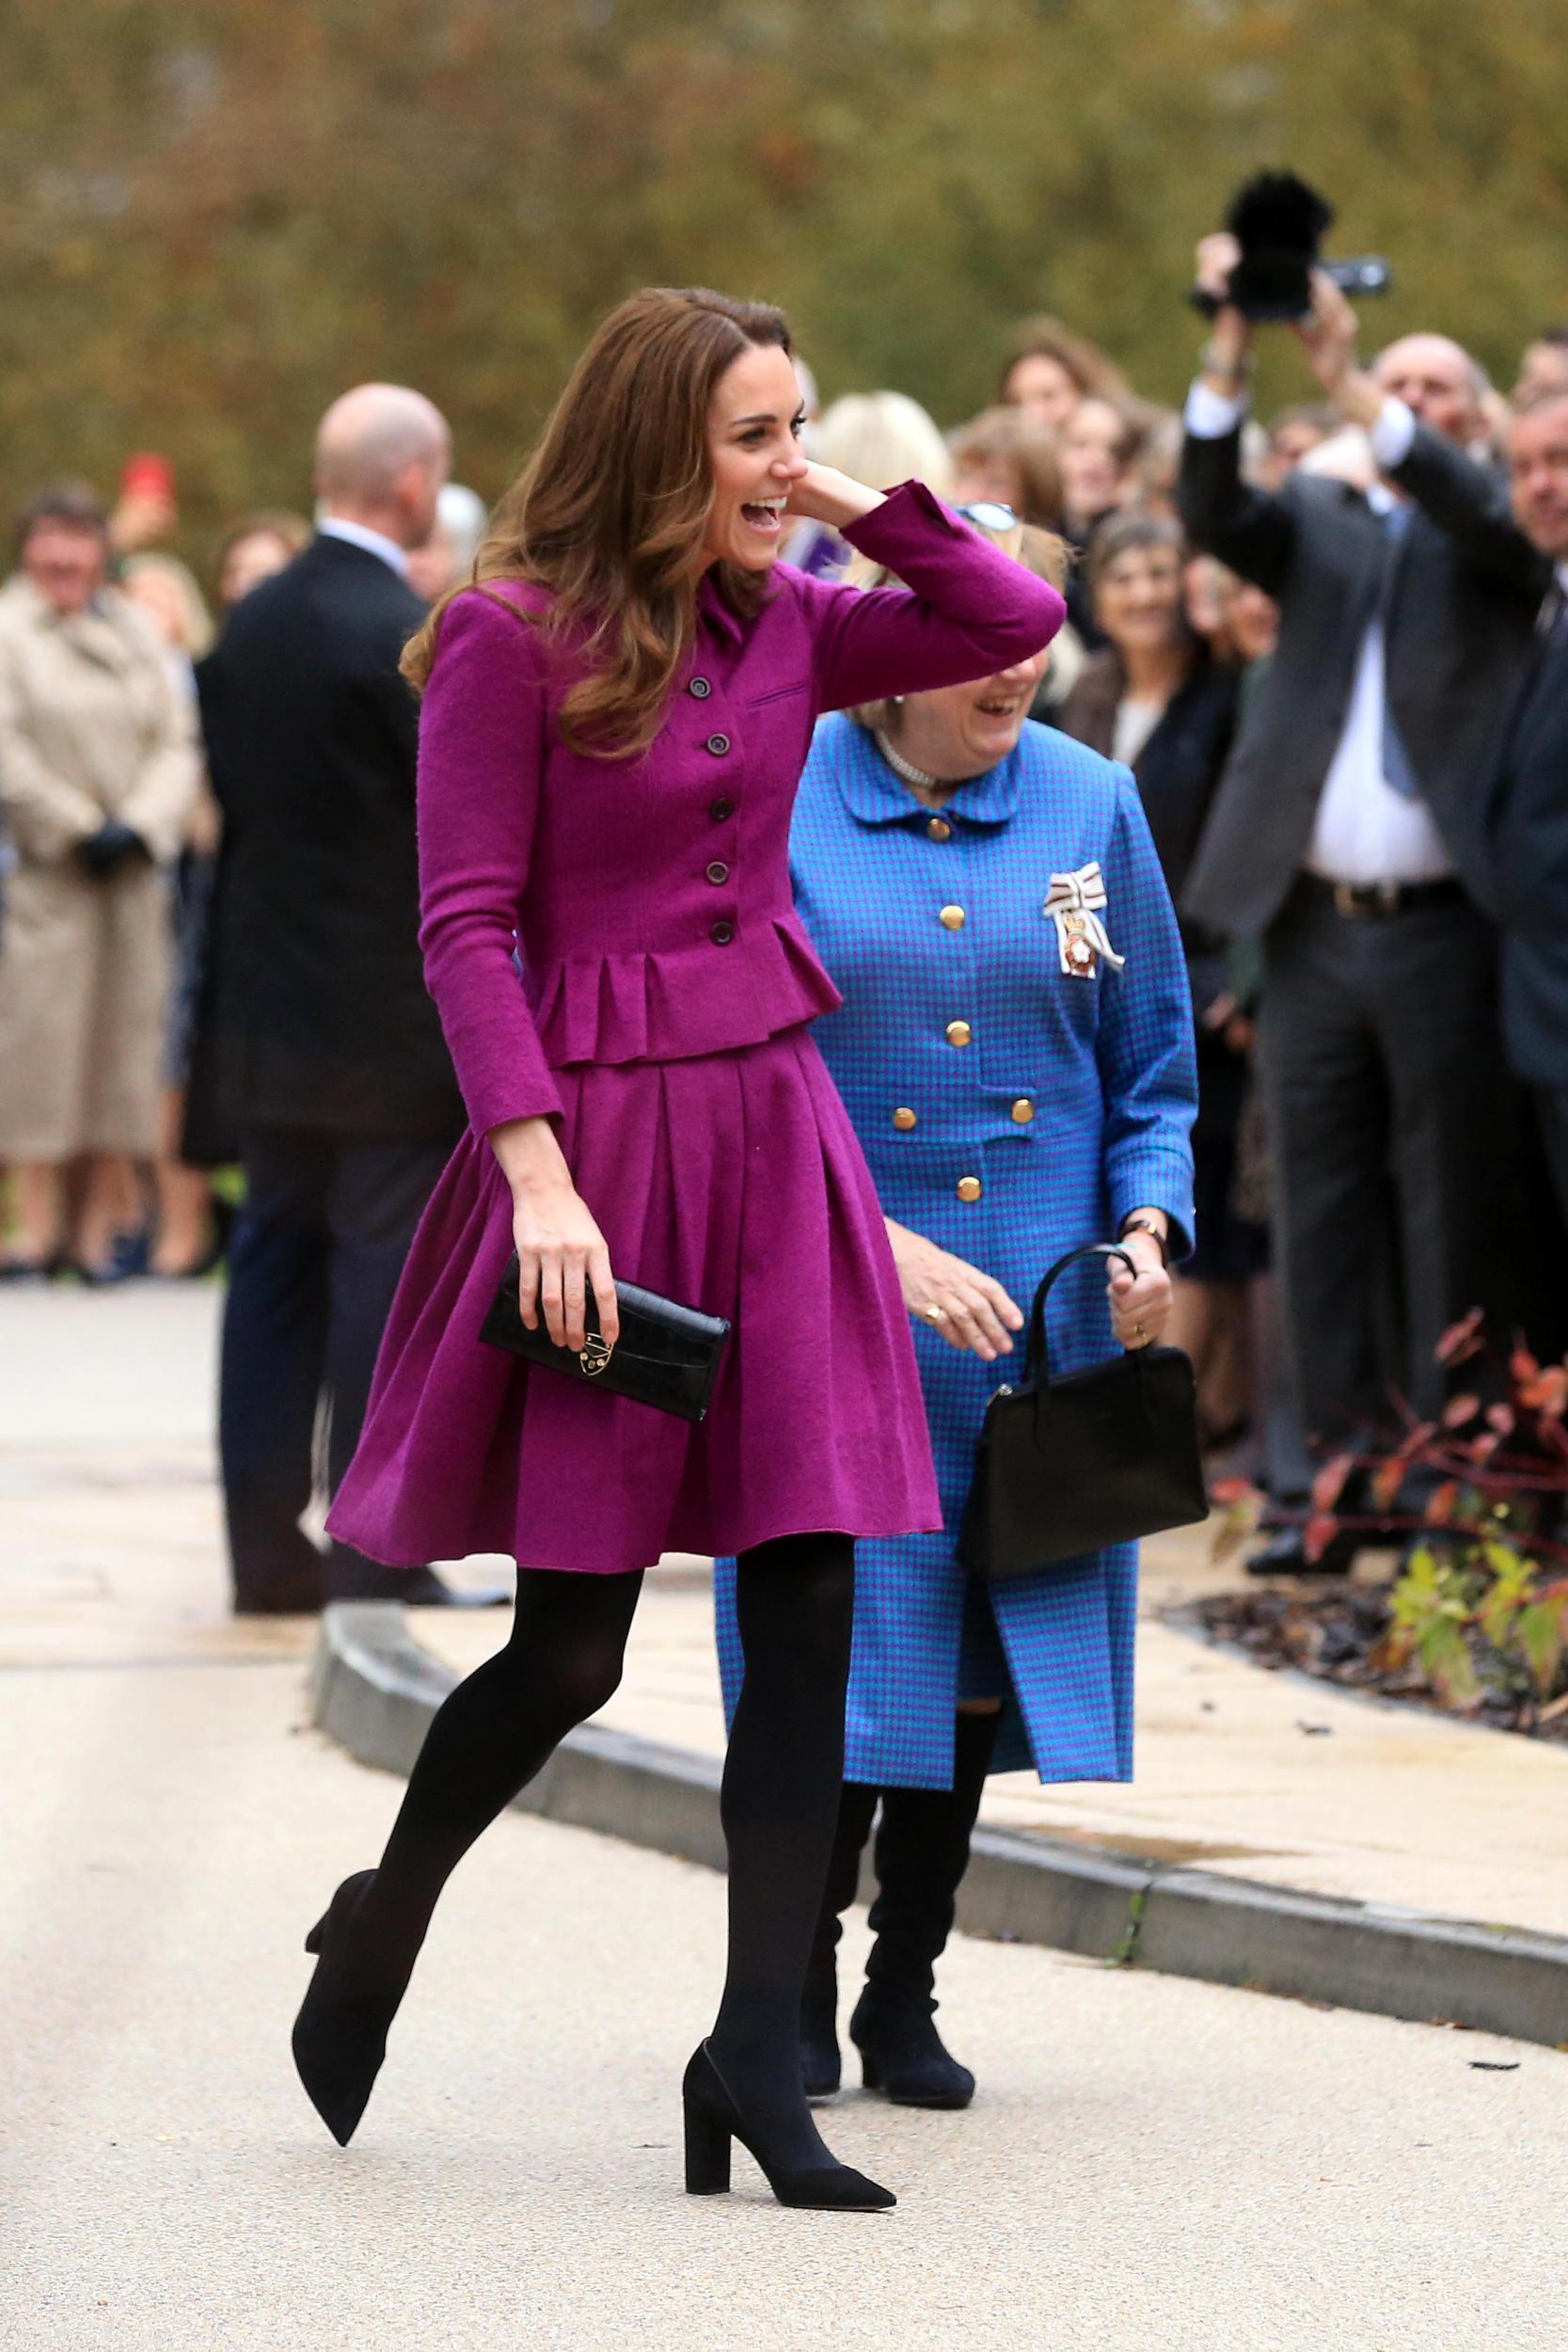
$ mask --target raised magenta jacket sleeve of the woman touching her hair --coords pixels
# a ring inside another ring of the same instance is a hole
[[[802,581],[818,710],[990,677],[1044,652],[1067,607],[1048,581],[905,482],[844,536],[905,586]]]

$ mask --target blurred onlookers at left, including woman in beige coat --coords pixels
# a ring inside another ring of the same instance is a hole
[[[435,602],[487,508],[458,482],[409,555]],[[221,816],[197,668],[235,604],[308,546],[263,508],[200,569],[174,473],[132,456],[106,503],[54,482],[0,588],[0,1279],[207,1275],[230,1202],[181,1157]]]

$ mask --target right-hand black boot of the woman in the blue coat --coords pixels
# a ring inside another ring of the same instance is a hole
[[[959,1715],[952,1788],[886,1788],[877,1828],[877,1900],[865,1992],[849,2020],[865,2089],[900,2107],[966,2107],[976,2079],[936,2030],[936,1962],[952,1931],[969,1837],[997,1745],[997,1715]]]

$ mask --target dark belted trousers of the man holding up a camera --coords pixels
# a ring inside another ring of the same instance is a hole
[[[1309,1435],[1429,1416],[1436,1343],[1502,1303],[1512,1120],[1495,931],[1443,896],[1338,915],[1295,894],[1265,941],[1260,1070],[1274,1155],[1286,1352]]]

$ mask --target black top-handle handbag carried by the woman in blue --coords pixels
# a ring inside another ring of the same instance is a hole
[[[1030,1576],[1110,1543],[1135,1543],[1208,1517],[1197,1383],[1180,1348],[1131,1348],[1051,1378],[1046,1294],[1077,1258],[1121,1258],[1088,1242],[1034,1291],[1018,1388],[985,1406],[959,1562],[973,1576]]]

